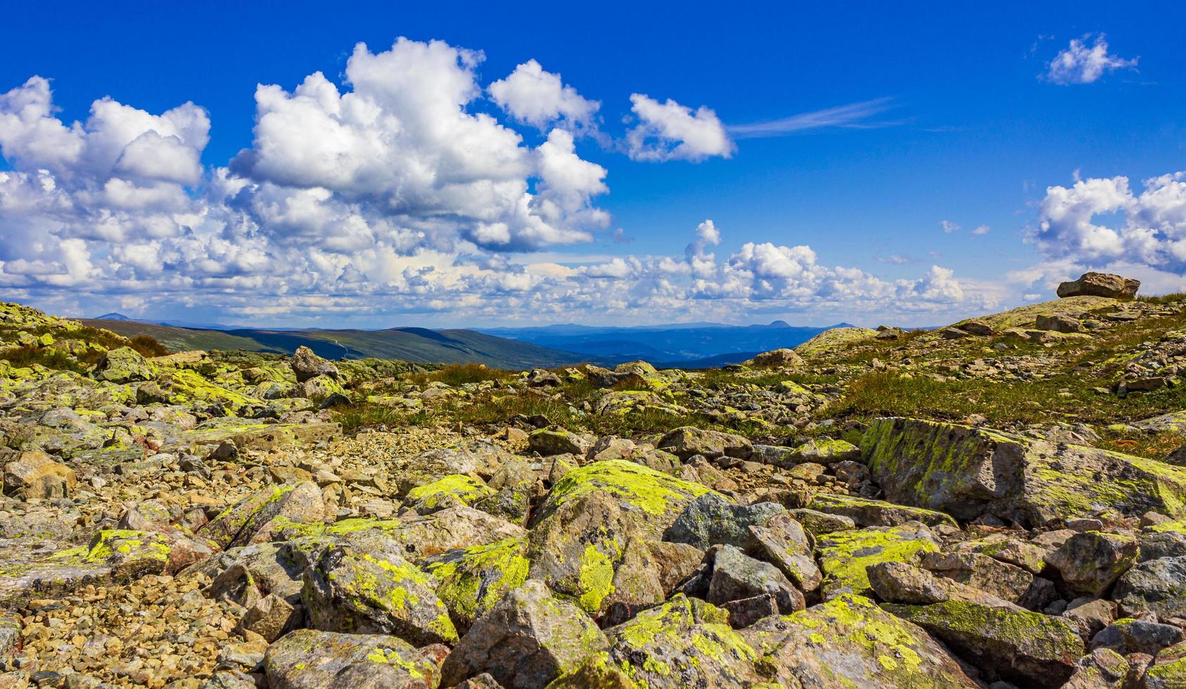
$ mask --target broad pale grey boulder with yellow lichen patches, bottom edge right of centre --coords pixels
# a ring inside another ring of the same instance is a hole
[[[980,687],[918,626],[844,594],[741,632],[782,687]]]

